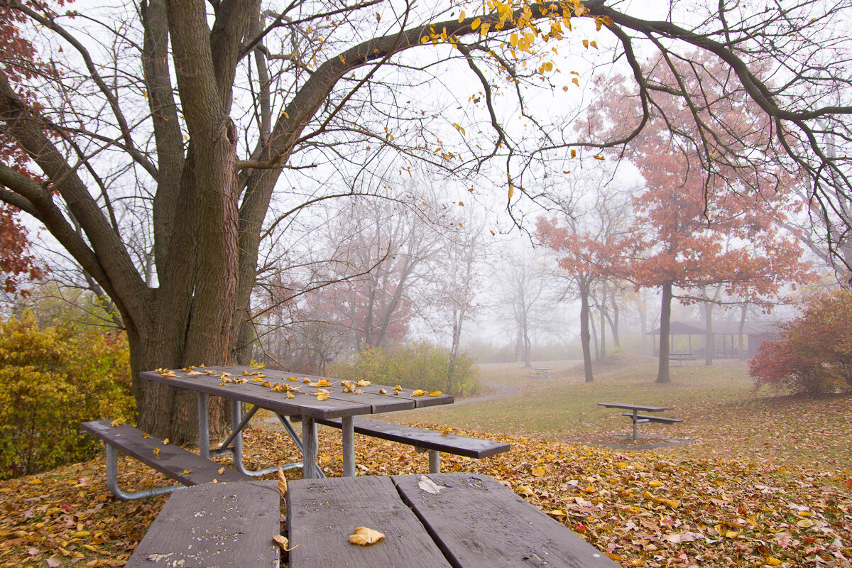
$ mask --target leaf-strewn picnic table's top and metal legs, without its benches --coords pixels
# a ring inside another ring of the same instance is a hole
[[[187,368],[188,369],[188,368]],[[438,396],[414,396],[411,388],[400,390],[394,387],[370,384],[355,387],[360,393],[346,392],[337,379],[313,375],[294,375],[279,370],[259,370],[239,365],[221,367],[197,367],[193,370],[146,371],[139,375],[142,379],[161,382],[170,387],[184,388],[198,393],[199,453],[209,459],[210,455],[233,453],[234,468],[246,472],[242,466],[242,436],[239,433],[248,424],[255,412],[261,408],[271,410],[284,425],[286,432],[302,450],[302,463],[290,464],[302,467],[305,479],[323,477],[317,467],[317,420],[341,420],[343,433],[343,475],[354,476],[354,424],[353,416],[413,410],[438,404],[452,404],[448,394]],[[323,380],[331,386],[311,387],[304,380],[314,384]],[[275,384],[299,387],[298,391],[275,391]],[[316,393],[320,388],[327,391],[328,398],[320,400]],[[384,391],[384,392],[382,392]],[[219,448],[210,449],[210,433],[207,420],[207,406],[210,395],[220,396],[232,401],[233,431]],[[245,416],[241,416],[242,403],[253,404]],[[302,422],[302,436],[296,433],[288,417],[296,417]],[[233,444],[233,445],[232,445]],[[308,464],[314,464],[310,467]]]

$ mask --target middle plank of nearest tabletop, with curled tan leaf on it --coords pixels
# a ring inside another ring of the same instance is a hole
[[[297,479],[287,491],[291,568],[449,568],[389,478]],[[382,542],[349,543],[355,528]],[[491,568],[496,568],[492,566]]]

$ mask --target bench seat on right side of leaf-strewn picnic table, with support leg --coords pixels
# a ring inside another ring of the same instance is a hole
[[[318,424],[325,424],[339,428],[339,418],[316,419]],[[435,430],[427,430],[393,422],[383,422],[372,418],[355,416],[353,419],[355,433],[372,436],[373,438],[386,439],[400,444],[413,445],[420,450],[429,450],[429,472],[439,473],[440,452],[450,453],[456,456],[472,457],[481,459],[494,456],[495,454],[509,451],[511,447],[505,442],[493,442],[487,439],[469,438],[457,434],[442,434]]]

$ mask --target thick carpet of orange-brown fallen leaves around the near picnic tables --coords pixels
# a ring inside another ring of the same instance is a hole
[[[445,455],[442,472],[491,475],[620,565],[852,568],[848,471],[786,467],[733,447],[727,456],[621,451],[442,429],[512,445],[480,461]],[[247,466],[297,461],[291,446],[283,433],[248,430]],[[321,430],[328,475],[342,475],[339,455],[339,433]],[[428,456],[383,440],[357,437],[356,459],[360,475],[429,473]],[[170,484],[129,458],[119,472],[129,491]],[[166,499],[112,497],[102,456],[0,481],[0,566],[124,565]]]

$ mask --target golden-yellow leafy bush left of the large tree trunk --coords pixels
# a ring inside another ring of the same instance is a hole
[[[100,443],[80,422],[134,409],[124,336],[26,312],[0,322],[0,479],[88,459]]]

